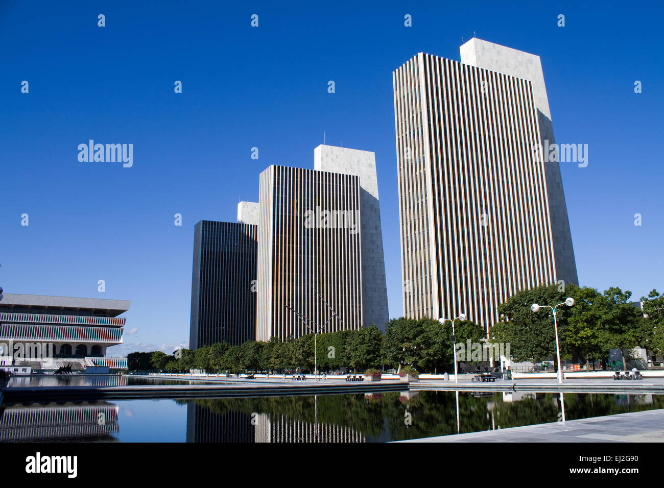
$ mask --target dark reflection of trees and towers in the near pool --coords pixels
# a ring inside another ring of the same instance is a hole
[[[422,390],[177,402],[193,408],[193,442],[218,438],[209,432],[215,429],[234,432],[230,442],[376,442],[557,422],[560,400],[558,392]],[[564,394],[566,420],[654,408],[664,408],[664,396]]]

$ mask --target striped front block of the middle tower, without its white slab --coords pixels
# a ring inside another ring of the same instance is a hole
[[[360,178],[270,166],[260,174],[256,339],[362,325]]]

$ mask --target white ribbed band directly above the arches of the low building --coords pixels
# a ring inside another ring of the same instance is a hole
[[[1,341],[52,341],[122,343],[124,327],[77,327],[72,325],[26,325],[3,323],[0,325]]]

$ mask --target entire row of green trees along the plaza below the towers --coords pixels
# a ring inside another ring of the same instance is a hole
[[[566,297],[574,298],[573,307],[556,309],[561,356],[563,359],[583,358],[586,364],[606,362],[610,349],[620,349],[623,367],[629,349],[643,347],[649,355],[664,350],[664,295],[653,289],[642,297],[643,311],[629,300],[630,291],[612,287],[604,293],[590,288],[568,285],[540,286],[519,291],[498,307],[501,319],[487,334],[479,325],[466,320],[456,323],[456,341],[509,344],[515,361],[544,361],[556,356],[553,316],[550,309],[531,311],[533,303],[556,305]],[[646,316],[644,316],[644,314]],[[452,325],[440,325],[432,319],[392,319],[386,333],[375,326],[357,331],[322,333],[317,340],[319,371],[363,370],[365,368],[398,368],[412,365],[419,371],[452,370]],[[128,357],[131,370],[188,371],[201,369],[238,373],[241,371],[284,370],[313,371],[313,334],[274,337],[268,342],[247,341],[232,346],[216,343],[195,351],[179,349],[173,355],[161,351],[132,353]]]

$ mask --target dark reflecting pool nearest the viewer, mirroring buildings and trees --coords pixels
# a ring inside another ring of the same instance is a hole
[[[566,420],[664,408],[651,394],[563,400]],[[556,422],[561,406],[550,392],[426,390],[7,404],[0,442],[386,442]]]

